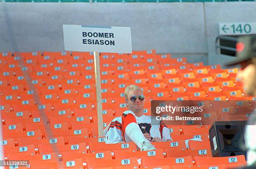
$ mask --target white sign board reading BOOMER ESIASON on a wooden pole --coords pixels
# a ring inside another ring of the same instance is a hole
[[[132,53],[130,27],[63,25],[65,50]]]

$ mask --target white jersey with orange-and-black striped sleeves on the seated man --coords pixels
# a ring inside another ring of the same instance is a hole
[[[136,121],[143,133],[148,133],[153,138],[159,137],[162,141],[172,140],[169,129],[161,121],[158,125],[151,125],[151,116],[145,115],[141,117],[136,116]],[[110,122],[106,129],[104,129],[104,136],[106,136],[106,144],[124,141],[122,137],[122,116],[116,117]]]

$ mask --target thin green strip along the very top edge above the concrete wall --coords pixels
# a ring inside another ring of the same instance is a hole
[[[94,3],[173,3],[173,2],[229,2],[229,1],[255,1],[255,0],[92,0]],[[90,0],[3,0],[3,2],[32,2],[32,3],[72,3],[72,2],[85,2],[89,3]]]

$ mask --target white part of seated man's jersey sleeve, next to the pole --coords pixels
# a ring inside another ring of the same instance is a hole
[[[123,141],[122,131],[116,127],[110,127],[105,136],[106,144],[120,143]]]

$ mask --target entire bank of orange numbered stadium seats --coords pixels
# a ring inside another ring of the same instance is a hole
[[[104,127],[126,110],[123,92],[130,84],[143,88],[146,115],[150,115],[151,99],[235,100],[234,105],[220,111],[238,114],[240,108],[254,106],[254,102],[241,106],[241,100],[255,98],[244,95],[236,79],[237,68],[223,70],[219,65],[187,63],[186,58],[148,50],[101,53],[100,69]],[[208,125],[168,126],[173,141],[153,143],[156,151],[137,151],[133,143],[105,144],[97,131],[92,53],[1,53],[0,79],[5,157],[29,160],[31,168],[58,168],[56,159],[62,162],[61,168],[220,169],[246,164],[244,156],[211,158]],[[209,104],[212,110],[216,107]],[[215,118],[226,120],[226,116]],[[192,138],[202,141],[185,141]],[[57,155],[53,144],[59,149]]]

